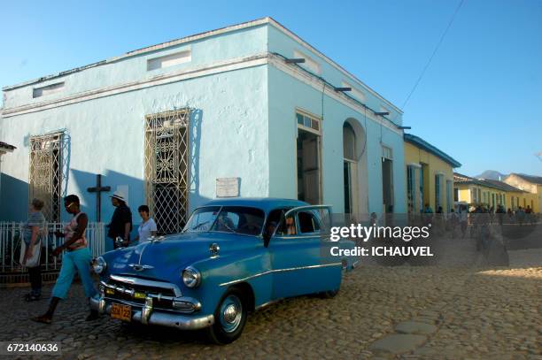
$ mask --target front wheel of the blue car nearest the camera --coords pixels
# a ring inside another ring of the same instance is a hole
[[[214,310],[213,326],[205,329],[207,339],[215,344],[225,345],[243,333],[248,316],[246,296],[243,291],[231,287],[222,295],[221,301]]]

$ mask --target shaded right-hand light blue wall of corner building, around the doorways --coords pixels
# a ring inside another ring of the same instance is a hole
[[[359,89],[365,95],[363,103],[376,111],[385,107],[391,112],[389,118],[396,124],[402,123],[402,115],[391,103],[352,79],[337,66],[330,64],[320,54],[303,47],[296,39],[286,36],[276,27],[269,27],[269,52],[283,57],[295,57],[301,51],[311,57],[320,67],[319,76],[340,87],[343,81]],[[300,65],[306,66],[306,65]],[[314,72],[313,69],[309,69]],[[394,212],[406,212],[405,177],[403,172],[404,149],[402,131],[388,121],[376,119],[371,111],[364,111],[359,104],[337,94],[320,80],[307,75],[296,65],[284,66],[283,61],[273,62],[268,68],[269,79],[269,144],[270,159],[269,194],[273,196],[297,197],[296,188],[296,109],[308,111],[323,119],[322,124],[322,187],[323,203],[333,205],[334,211],[342,212],[345,207],[343,176],[343,125],[348,119],[360,131],[365,132],[360,140],[360,167],[365,166],[358,179],[360,188],[361,214],[383,212],[382,185],[382,144],[393,151],[393,201]],[[322,94],[323,90],[323,94]],[[352,94],[351,94],[352,95]],[[360,99],[358,99],[360,100]],[[356,127],[354,126],[354,127]],[[382,133],[381,133],[382,129]],[[382,134],[382,138],[381,138]],[[367,144],[363,146],[363,142]],[[363,164],[361,164],[363,163]]]

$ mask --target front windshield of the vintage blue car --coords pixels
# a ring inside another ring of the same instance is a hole
[[[217,231],[259,235],[265,213],[245,206],[205,206],[192,213],[182,230],[184,233]]]

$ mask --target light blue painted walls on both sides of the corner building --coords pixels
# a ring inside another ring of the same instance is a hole
[[[65,193],[80,195],[83,210],[93,220],[96,195],[86,188],[94,186],[96,174],[101,173],[103,185],[113,191],[128,186],[129,204],[135,210],[144,202],[145,115],[187,106],[193,109],[190,151],[197,154],[191,160],[190,211],[214,197],[219,177],[240,178],[241,196],[295,198],[295,110],[301,108],[323,114],[324,203],[331,203],[336,211],[344,208],[342,128],[349,119],[367,134],[367,171],[360,179],[367,191],[361,194],[361,203],[367,204],[368,212],[382,212],[381,146],[385,144],[393,149],[394,210],[405,212],[402,131],[329,87],[322,102],[318,81],[307,80],[302,72],[285,71],[283,59],[278,61],[272,54],[291,56],[302,50],[320,63],[321,76],[337,86],[344,80],[352,83],[367,96],[365,103],[376,111],[390,111],[389,118],[396,124],[401,123],[400,111],[285,32],[272,21],[258,23],[174,46],[136,50],[56,79],[4,89],[0,136],[10,139],[18,151],[4,162],[3,180],[9,181],[3,184],[10,183],[12,191],[3,191],[2,203],[11,206],[2,210],[0,219],[26,218],[28,139],[58,129],[66,129],[70,139]],[[180,50],[190,50],[190,62],[148,70],[149,59]],[[36,87],[58,81],[64,81],[65,87],[33,98]],[[112,206],[104,196],[102,219],[111,215]]]

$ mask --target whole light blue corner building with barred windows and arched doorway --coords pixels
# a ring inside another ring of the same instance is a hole
[[[305,62],[299,63],[299,59]],[[352,88],[345,91],[341,88]],[[5,87],[0,220],[28,197],[66,219],[80,195],[151,204],[163,232],[217,196],[277,196],[336,212],[406,212],[402,113],[274,19],[164,42]],[[383,114],[383,113],[389,114]]]

